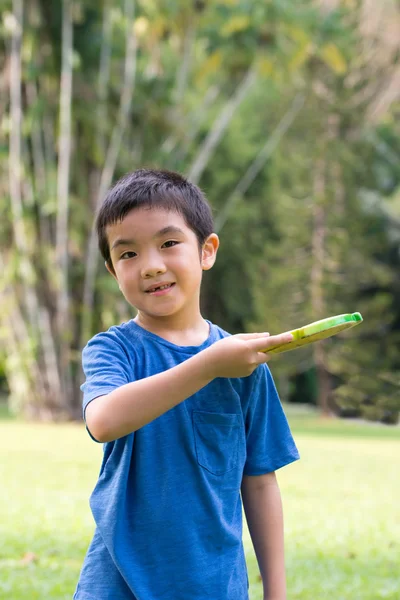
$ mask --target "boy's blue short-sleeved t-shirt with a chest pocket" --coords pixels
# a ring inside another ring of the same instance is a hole
[[[209,323],[177,346],[129,321],[83,351],[83,408],[229,335]],[[104,444],[96,522],[75,600],[246,600],[243,475],[299,458],[266,365],[218,378],[138,431]]]

